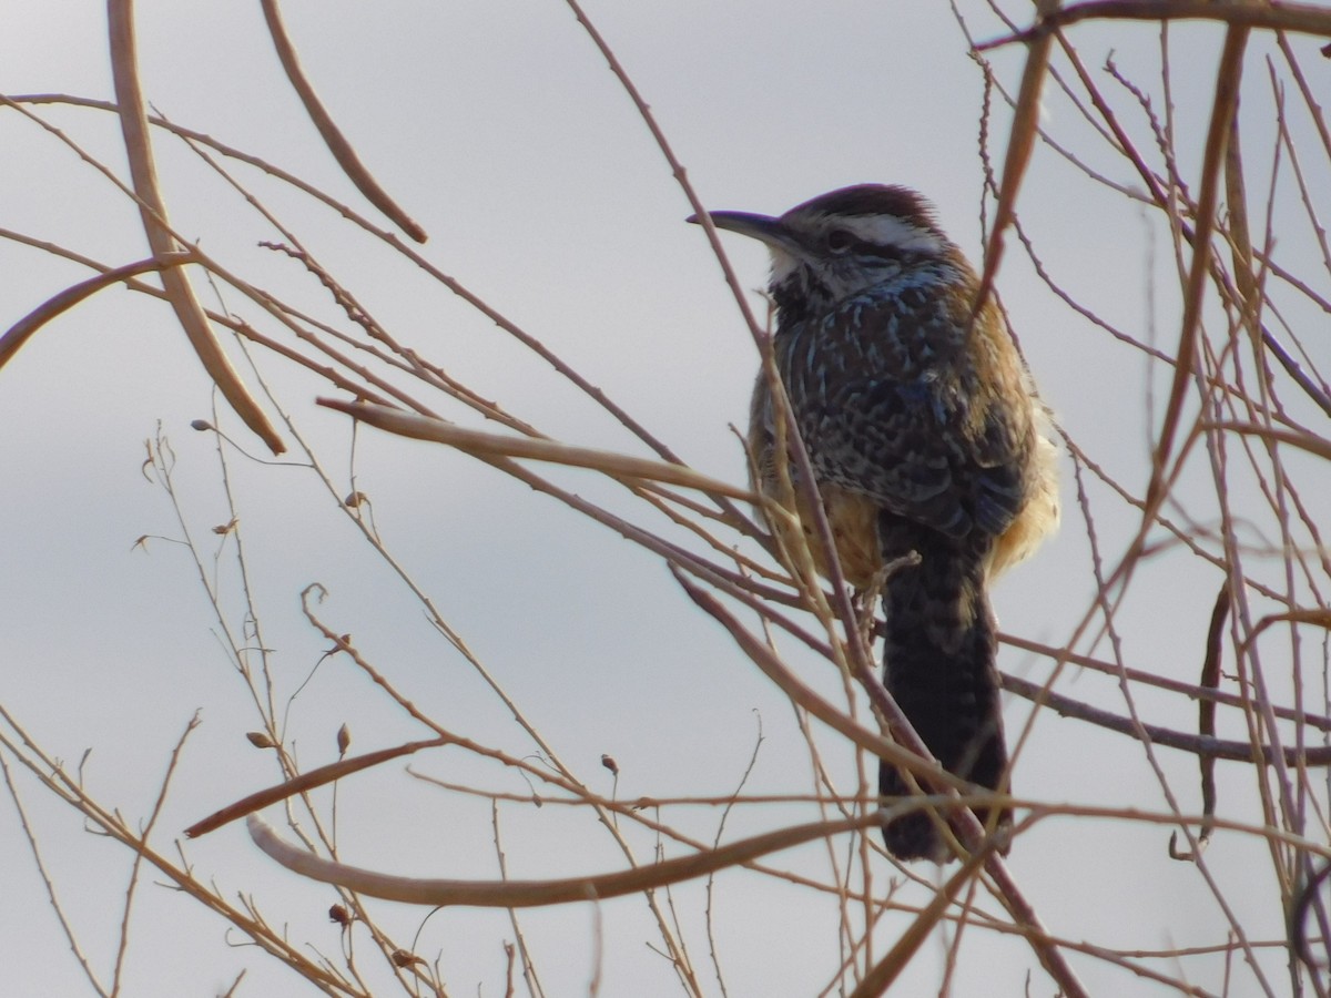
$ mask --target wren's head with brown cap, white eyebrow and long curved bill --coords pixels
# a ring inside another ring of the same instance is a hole
[[[769,290],[783,314],[816,311],[954,248],[928,201],[909,188],[861,184],[820,194],[783,216],[709,212],[717,229],[772,253]],[[688,221],[697,222],[697,216]]]

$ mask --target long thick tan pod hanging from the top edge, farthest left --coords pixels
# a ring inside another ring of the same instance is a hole
[[[133,0],[106,0],[108,31],[110,37],[110,71],[120,105],[120,125],[129,156],[129,173],[138,198],[148,245],[156,257],[176,254],[178,245],[166,221],[166,202],[157,184],[152,141],[148,134],[148,116],[138,83],[138,53],[134,40]],[[194,353],[236,414],[269,446],[273,454],[285,450],[277,430],[250,397],[232,362],[222,353],[204,307],[194,295],[189,278],[180,266],[162,270],[162,287]]]

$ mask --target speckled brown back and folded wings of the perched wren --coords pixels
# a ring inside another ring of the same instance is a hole
[[[996,394],[949,303],[916,290],[909,313],[893,294],[843,306],[816,338],[796,331],[785,358],[800,434],[821,480],[948,536],[994,536],[1026,500],[1030,403],[1020,381]]]

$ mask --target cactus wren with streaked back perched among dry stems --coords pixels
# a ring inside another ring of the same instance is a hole
[[[771,250],[776,367],[847,580],[868,588],[888,562],[920,555],[882,583],[886,688],[949,772],[998,788],[1008,750],[986,588],[1057,526],[1058,483],[1045,409],[997,305],[973,315],[976,271],[906,188],[844,188],[779,218],[711,218]],[[768,495],[780,495],[775,419],[760,374],[749,444]],[[888,762],[878,788],[908,793]],[[926,813],[884,837],[898,858],[948,858]]]

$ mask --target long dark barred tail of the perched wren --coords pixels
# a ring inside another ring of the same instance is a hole
[[[886,582],[884,684],[945,769],[996,789],[1008,768],[1008,749],[985,550],[973,539],[954,540],[890,515],[884,515],[880,534],[889,556],[913,550],[921,558]],[[909,793],[900,770],[886,761],[878,769],[878,789],[888,798]],[[978,808],[976,814],[986,821],[988,810]],[[1005,809],[1000,824],[1010,820]],[[949,857],[925,812],[889,822],[882,834],[888,852],[900,860]]]

